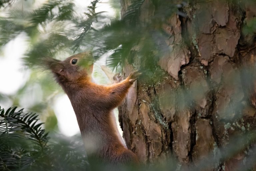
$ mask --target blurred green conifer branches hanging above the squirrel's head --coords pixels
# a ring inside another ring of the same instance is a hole
[[[168,50],[165,43],[159,44],[161,38],[168,36],[160,26],[177,12],[177,6],[171,2],[156,1],[154,17],[139,24],[138,14],[143,2],[144,0],[134,1],[123,20],[119,20],[119,17],[109,18],[103,11],[96,12],[99,0],[92,1],[85,16],[80,18],[74,15],[73,2],[67,0],[48,1],[35,10],[28,10],[29,7],[11,9],[6,17],[0,19],[3,33],[0,45],[25,32],[31,41],[24,58],[28,66],[40,65],[40,58],[54,57],[60,51],[72,54],[93,49],[96,59],[111,52],[107,59],[110,67],[116,69],[126,59],[132,63],[136,56],[141,58],[141,69],[152,73],[158,67],[155,61],[159,55]],[[111,4],[115,9],[120,6],[115,1],[111,1]],[[144,41],[140,43],[140,50],[131,54],[132,48],[141,40]]]

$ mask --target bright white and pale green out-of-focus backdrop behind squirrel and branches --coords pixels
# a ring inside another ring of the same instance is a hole
[[[0,16],[6,17],[10,13],[19,15],[18,11],[24,13],[31,12],[39,9],[46,2],[46,0],[10,1],[11,4],[9,6],[7,5],[5,8],[2,8]],[[71,3],[71,1],[65,3]],[[90,6],[90,3],[90,0],[72,1],[72,15],[81,20],[86,19],[87,15],[84,13],[88,12],[87,7]],[[97,4],[97,8],[95,8],[96,13],[105,11],[103,14],[105,24],[109,23],[112,18],[120,18],[120,15],[116,16],[118,12],[115,10],[117,9],[113,5],[111,6],[109,1],[101,1]],[[58,13],[56,7],[53,11]],[[20,19],[20,21],[16,20],[14,22],[21,22],[19,24],[23,25],[25,23],[22,22],[26,21]],[[58,32],[60,29],[67,30],[69,27],[72,27],[72,24],[68,22],[54,23],[53,21],[49,21],[49,23],[37,27],[39,32],[36,35],[31,36],[24,31],[20,31],[19,33],[15,33],[15,36],[10,38],[1,47],[0,54],[0,77],[2,82],[0,86],[1,108],[7,109],[10,106],[18,106],[19,108],[25,108],[26,111],[37,112],[40,114],[40,120],[46,123],[43,126],[47,131],[60,131],[65,136],[80,134],[76,116],[67,95],[55,83],[50,72],[42,72],[40,69],[28,67],[23,58],[33,48],[33,42],[47,39],[50,34]],[[97,27],[101,26],[99,25]],[[72,38],[75,39],[75,36]],[[83,49],[85,51],[90,50],[81,48],[80,51]],[[37,55],[40,54],[38,53]],[[64,60],[71,55],[73,55],[72,51],[64,49],[50,57]],[[37,57],[40,58],[40,56]],[[103,55],[94,65],[93,79],[97,84],[111,84],[105,72],[101,69],[101,65],[106,65],[106,57],[107,54]]]

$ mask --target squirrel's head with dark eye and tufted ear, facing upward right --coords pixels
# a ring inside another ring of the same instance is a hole
[[[47,58],[43,62],[53,72],[57,82],[63,84],[67,82],[76,83],[88,77],[90,78],[94,60],[92,52],[87,51],[70,56],[63,61]]]

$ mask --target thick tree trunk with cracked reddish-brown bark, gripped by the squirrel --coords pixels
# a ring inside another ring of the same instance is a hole
[[[131,3],[121,1],[122,17]],[[161,25],[169,51],[156,65],[165,77],[152,84],[138,79],[119,112],[127,146],[142,162],[175,158],[181,169],[256,171],[255,144],[244,137],[256,128],[255,30],[246,32],[255,7],[253,1],[192,2],[179,9],[186,16],[174,13]],[[159,8],[144,0],[138,24]],[[140,62],[126,62],[124,76]]]

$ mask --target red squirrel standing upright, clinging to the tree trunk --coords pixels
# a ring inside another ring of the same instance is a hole
[[[113,109],[121,104],[141,73],[136,70],[119,83],[102,86],[91,82],[91,51],[70,56],[63,61],[46,58],[43,62],[70,99],[87,156],[111,164],[138,163],[137,156],[127,149],[117,130]],[[86,66],[82,68],[81,65],[85,63]],[[119,75],[115,76],[120,78]]]

